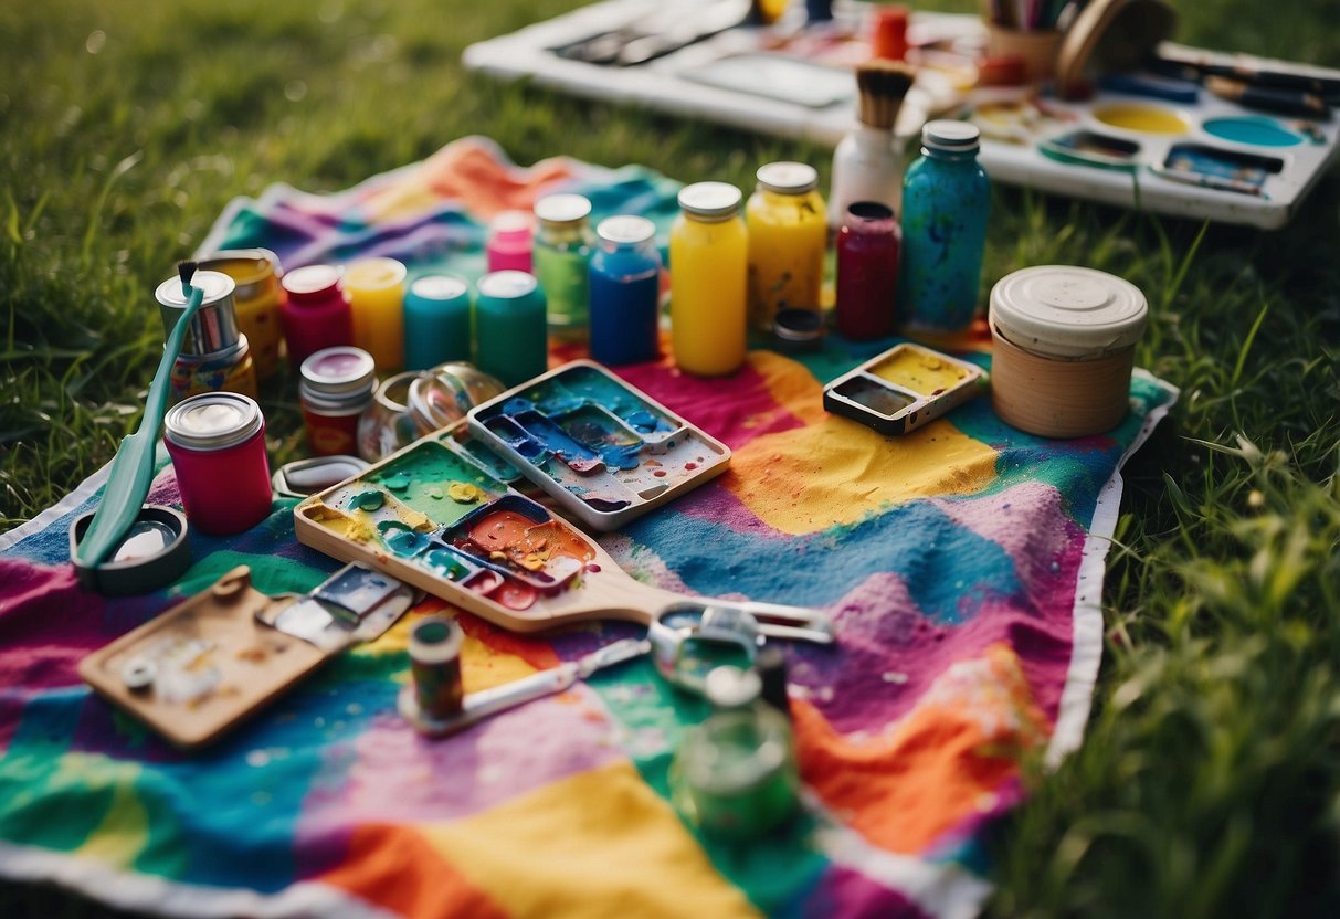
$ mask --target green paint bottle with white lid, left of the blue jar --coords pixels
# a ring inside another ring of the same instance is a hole
[[[587,263],[591,202],[580,194],[551,194],[535,202],[539,233],[532,271],[548,301],[549,331],[561,340],[587,335]]]

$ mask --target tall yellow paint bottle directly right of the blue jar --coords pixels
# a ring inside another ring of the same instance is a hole
[[[670,229],[670,340],[679,370],[724,376],[745,362],[749,234],[725,182],[679,192]]]

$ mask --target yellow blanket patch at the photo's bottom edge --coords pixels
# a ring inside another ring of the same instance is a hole
[[[423,836],[513,916],[758,915],[628,762],[425,828]]]

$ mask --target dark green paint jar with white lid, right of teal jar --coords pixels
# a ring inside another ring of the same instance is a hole
[[[586,264],[583,263],[583,271]],[[586,287],[583,284],[583,287]],[[548,368],[545,291],[520,271],[496,271],[476,284],[476,363],[505,386],[519,386]]]

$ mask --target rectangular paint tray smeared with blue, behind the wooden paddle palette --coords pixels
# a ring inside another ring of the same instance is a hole
[[[476,406],[470,431],[596,531],[720,476],[730,449],[591,360]]]

